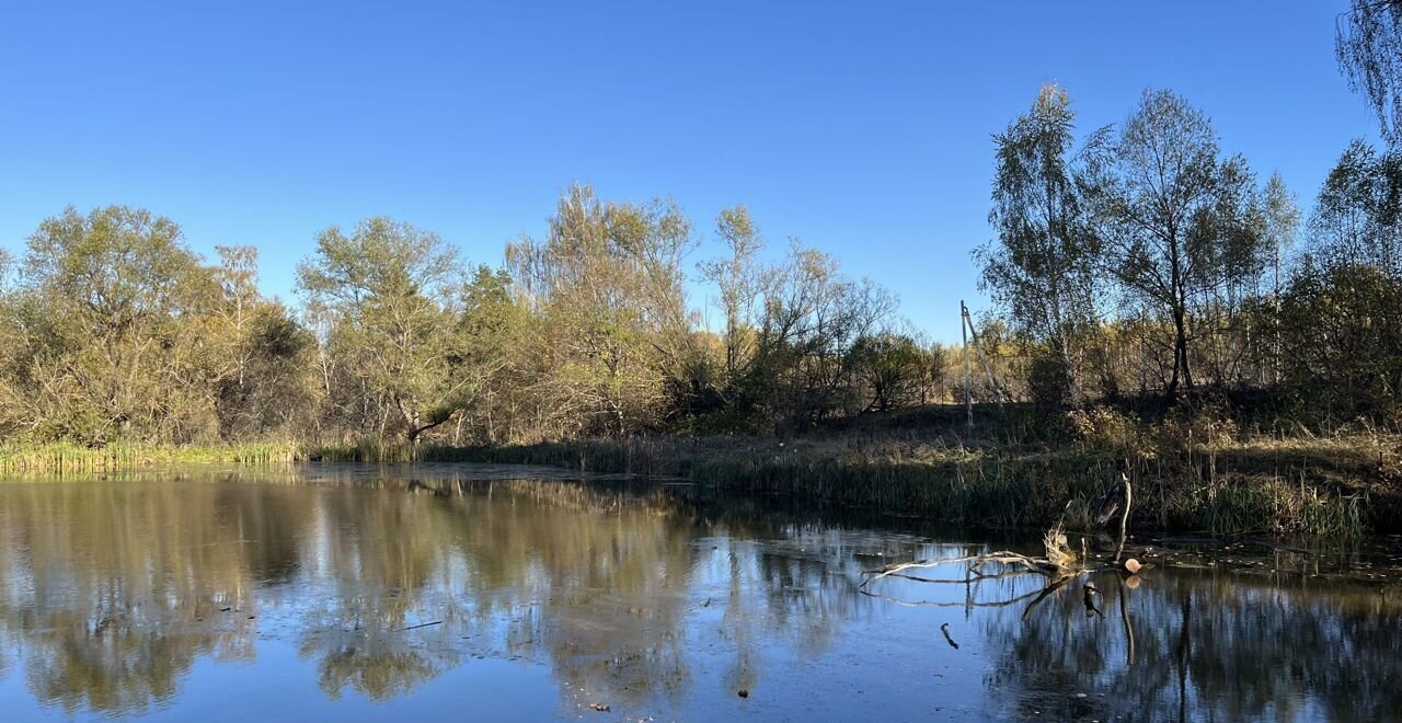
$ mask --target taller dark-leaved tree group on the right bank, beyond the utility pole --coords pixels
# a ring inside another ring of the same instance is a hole
[[[1047,85],[995,149],[997,238],[974,256],[1028,398],[1251,391],[1305,425],[1399,419],[1396,150],[1350,143],[1302,221],[1166,90],[1078,137]]]

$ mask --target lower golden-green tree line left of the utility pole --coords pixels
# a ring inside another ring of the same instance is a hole
[[[743,206],[715,234],[725,256],[693,263],[700,234],[674,203],[576,185],[544,237],[489,268],[373,217],[318,234],[289,307],[259,293],[251,247],[209,261],[170,219],[70,207],[4,259],[0,437],[787,433],[934,398],[948,354],[889,291],[798,241],[765,261]]]

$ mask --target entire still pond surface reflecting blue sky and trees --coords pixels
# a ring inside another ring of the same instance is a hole
[[[1392,541],[1169,541],[1088,577],[1101,614],[1080,580],[859,588],[1008,545],[537,468],[13,479],[0,719],[1402,717]]]

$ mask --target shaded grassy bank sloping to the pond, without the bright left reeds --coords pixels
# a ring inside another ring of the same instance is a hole
[[[421,458],[561,465],[686,478],[737,495],[781,495],[962,525],[1088,530],[1129,471],[1136,530],[1350,538],[1402,530],[1394,453],[1377,437],[1259,439],[1126,458],[1067,446],[951,444],[858,436],[817,440],[637,439],[422,450]]]

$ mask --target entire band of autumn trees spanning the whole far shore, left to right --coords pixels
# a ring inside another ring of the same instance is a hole
[[[1077,137],[1047,87],[994,160],[997,238],[974,255],[1004,394],[1063,409],[1251,390],[1305,426],[1398,420],[1402,156],[1350,144],[1302,234],[1280,178],[1258,182],[1168,91]],[[210,262],[168,219],[69,209],[0,258],[0,440],[768,434],[962,399],[959,349],[880,286],[798,241],[765,254],[743,206],[712,234],[725,254],[695,262],[674,203],[573,186],[494,269],[373,217],[317,237],[292,308],[259,294],[251,247]],[[702,284],[707,304],[688,300]]]

